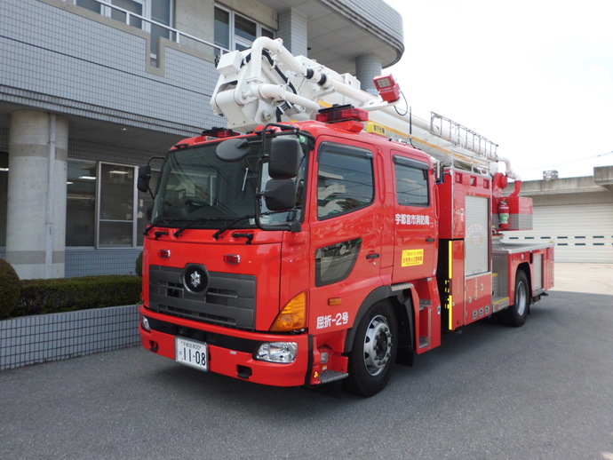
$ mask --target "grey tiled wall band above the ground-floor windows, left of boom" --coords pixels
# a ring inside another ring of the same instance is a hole
[[[3,0],[0,30],[0,55],[11,62],[0,66],[0,95],[14,102],[104,120],[115,115],[152,130],[176,125],[189,135],[223,124],[209,105],[214,65],[188,49],[166,48],[156,75],[147,71],[139,29],[132,34],[37,0]]]

